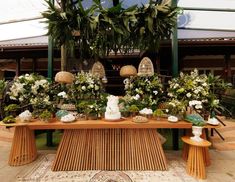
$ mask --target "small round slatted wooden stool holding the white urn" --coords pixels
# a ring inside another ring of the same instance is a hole
[[[182,137],[183,142],[189,145],[187,161],[187,173],[199,179],[206,178],[205,162],[203,159],[203,148],[209,147],[211,143],[207,140],[195,142],[189,136]]]

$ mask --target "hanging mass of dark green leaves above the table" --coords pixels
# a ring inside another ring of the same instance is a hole
[[[128,9],[121,3],[104,8],[99,0],[93,0],[88,9],[81,0],[62,1],[63,7],[46,2],[48,10],[42,15],[48,24],[48,35],[59,46],[78,43],[82,57],[104,56],[111,51],[125,54],[134,49],[157,51],[160,41],[170,38],[180,12],[169,1],[150,0],[149,4]],[[80,31],[80,36],[75,37],[74,31]]]

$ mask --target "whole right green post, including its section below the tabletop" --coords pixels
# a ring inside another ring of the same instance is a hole
[[[172,0],[172,7],[177,7],[177,0]],[[177,34],[177,24],[173,27],[172,30],[172,42],[171,42],[171,51],[172,51],[172,76],[176,77],[179,74],[178,68],[178,34]],[[179,129],[172,130],[172,143],[173,149],[179,149]]]

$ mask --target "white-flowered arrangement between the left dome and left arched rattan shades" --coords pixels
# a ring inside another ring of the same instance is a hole
[[[72,84],[73,98],[79,99],[99,99],[104,92],[100,79],[91,73],[80,72],[75,76]]]

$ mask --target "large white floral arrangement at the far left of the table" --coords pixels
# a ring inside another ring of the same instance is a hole
[[[53,110],[50,90],[51,84],[45,77],[32,73],[16,78],[7,94],[20,107],[33,109],[33,115],[38,117],[44,110]]]

